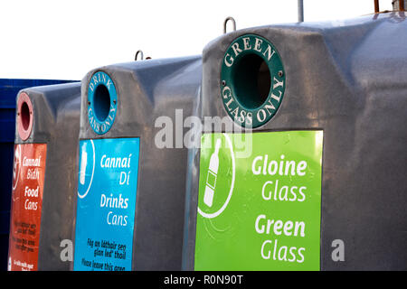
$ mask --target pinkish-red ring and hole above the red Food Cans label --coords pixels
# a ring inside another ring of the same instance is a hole
[[[26,140],[33,130],[33,103],[25,92],[17,100],[17,131],[22,140]]]

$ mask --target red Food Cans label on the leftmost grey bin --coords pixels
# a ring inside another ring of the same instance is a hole
[[[15,144],[8,270],[38,269],[47,144]]]

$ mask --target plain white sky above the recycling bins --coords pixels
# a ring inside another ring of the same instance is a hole
[[[374,0],[304,0],[305,22],[373,13]],[[0,78],[82,79],[140,49],[153,59],[201,54],[227,16],[238,30],[296,23],[297,0],[2,0]]]

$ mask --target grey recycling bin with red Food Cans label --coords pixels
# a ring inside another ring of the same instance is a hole
[[[8,270],[70,270],[80,82],[17,97]]]

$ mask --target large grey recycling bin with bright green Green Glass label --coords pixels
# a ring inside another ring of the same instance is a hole
[[[407,269],[406,29],[383,13],[205,47],[201,117],[227,128],[190,150],[183,269]]]

